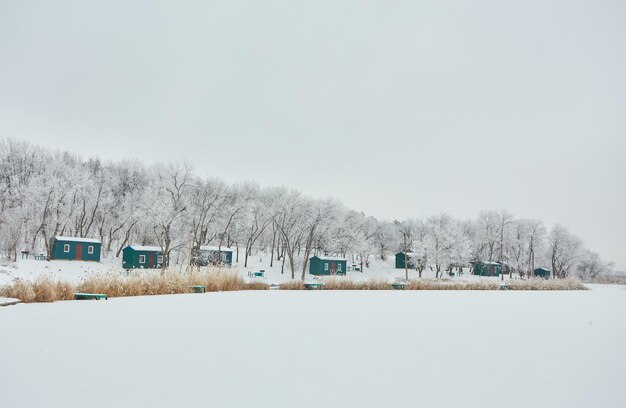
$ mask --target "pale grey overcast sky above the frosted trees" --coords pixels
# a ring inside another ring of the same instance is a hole
[[[0,137],[506,208],[626,269],[626,2],[0,0]]]

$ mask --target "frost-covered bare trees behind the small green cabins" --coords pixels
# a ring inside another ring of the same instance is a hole
[[[595,279],[612,264],[585,248],[562,225],[505,210],[476,219],[437,214],[379,220],[333,199],[284,187],[202,178],[190,165],[102,162],[13,139],[0,141],[0,251],[15,261],[22,250],[50,255],[57,235],[98,238],[105,256],[129,244],[157,245],[166,262],[193,264],[202,245],[232,247],[245,266],[256,253],[271,266],[304,279],[308,259],[333,254],[369,267],[374,258],[410,252],[419,275],[436,276],[472,261],[499,261],[520,275],[535,267],[554,277]]]

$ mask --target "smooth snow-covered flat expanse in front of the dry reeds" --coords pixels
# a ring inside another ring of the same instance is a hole
[[[623,407],[626,290],[0,308],[3,407]]]

